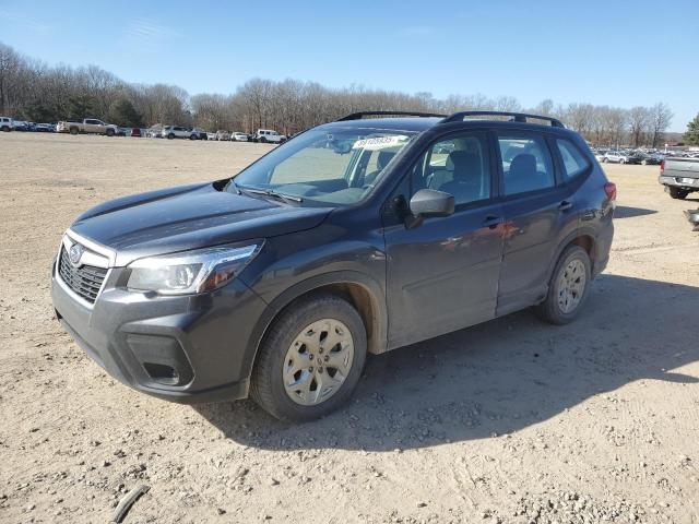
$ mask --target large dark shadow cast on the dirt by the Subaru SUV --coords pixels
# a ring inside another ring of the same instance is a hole
[[[639,380],[697,383],[699,288],[601,275],[565,326],[522,311],[374,356],[352,401],[283,424],[250,401],[197,406],[229,439],[268,450],[392,451],[510,433]]]

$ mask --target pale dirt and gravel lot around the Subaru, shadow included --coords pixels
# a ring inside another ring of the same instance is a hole
[[[54,319],[62,231],[106,199],[236,172],[262,144],[0,134],[0,522],[699,522],[699,233],[657,166],[607,166],[616,238],[581,318],[523,311],[369,359],[289,426],[105,374]]]

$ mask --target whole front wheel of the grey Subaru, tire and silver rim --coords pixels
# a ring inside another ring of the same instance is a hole
[[[265,335],[252,371],[251,396],[281,420],[320,418],[350,397],[366,353],[366,329],[350,302],[334,295],[301,298]]]

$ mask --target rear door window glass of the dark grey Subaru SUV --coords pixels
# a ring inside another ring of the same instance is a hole
[[[550,154],[543,136],[516,133],[498,136],[505,194],[528,193],[556,184]]]

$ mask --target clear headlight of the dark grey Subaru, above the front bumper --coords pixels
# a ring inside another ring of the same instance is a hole
[[[260,248],[217,247],[139,259],[128,266],[131,274],[127,287],[162,295],[210,291],[240,273]]]

